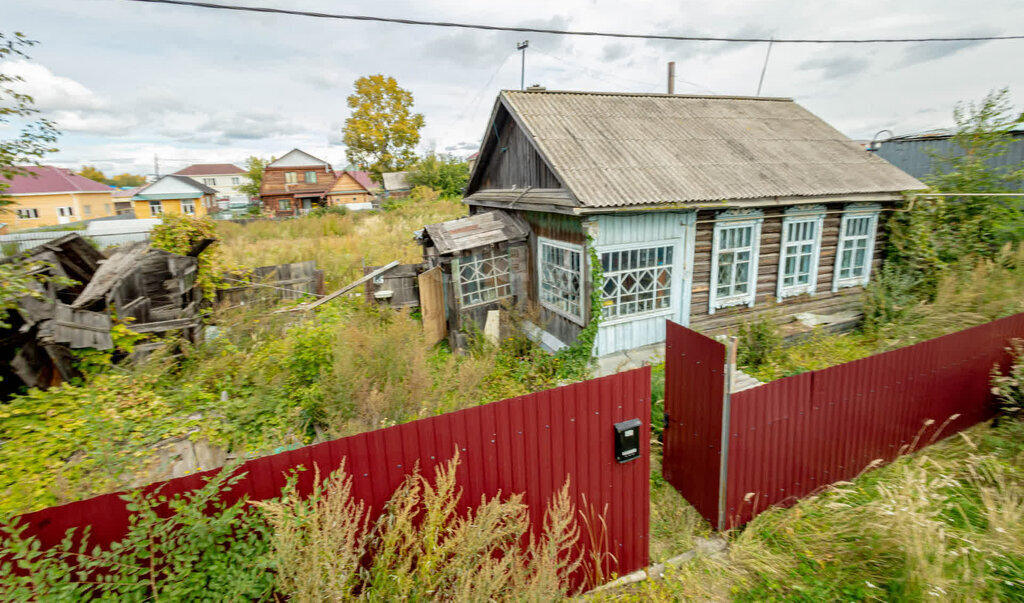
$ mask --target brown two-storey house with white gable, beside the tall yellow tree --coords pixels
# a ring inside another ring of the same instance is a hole
[[[299,216],[326,206],[337,179],[331,164],[293,148],[263,170],[260,201],[276,216]]]

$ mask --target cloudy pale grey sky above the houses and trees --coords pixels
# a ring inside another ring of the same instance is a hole
[[[756,37],[1024,34],[1024,2],[990,0],[219,0],[222,4],[552,29]],[[765,44],[637,41],[256,14],[125,0],[3,0],[5,34],[38,40],[26,79],[63,132],[48,163],[111,173],[281,156],[298,146],[345,163],[341,127],[352,82],[385,74],[426,117],[421,150],[466,156],[495,96],[519,87],[515,43],[528,39],[526,84],[549,89],[755,93]],[[951,125],[953,104],[1024,91],[1024,40],[782,45],[762,93],[796,98],[854,138]],[[1019,104],[1018,104],[1019,105]],[[0,129],[0,137],[9,133]]]

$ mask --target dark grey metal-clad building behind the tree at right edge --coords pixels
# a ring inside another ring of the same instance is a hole
[[[1024,166],[1024,130],[1010,133],[1010,143],[1006,153],[992,158],[988,166],[1005,172],[1013,172]],[[964,149],[953,143],[952,132],[930,132],[927,134],[909,134],[894,136],[881,142],[874,142],[870,150],[910,174],[914,178],[924,178],[942,167],[942,162],[936,159],[959,157]],[[1024,190],[1024,188],[1018,188]]]

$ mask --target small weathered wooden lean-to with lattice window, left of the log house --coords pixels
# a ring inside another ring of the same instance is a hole
[[[419,283],[427,332],[447,333],[452,346],[462,348],[470,324],[482,329],[488,311],[520,306],[528,279],[528,234],[525,222],[501,210],[425,226],[417,240],[423,246]],[[431,320],[444,328],[428,325]]]

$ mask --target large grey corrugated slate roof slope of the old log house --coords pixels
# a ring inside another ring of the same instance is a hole
[[[925,188],[792,99],[505,90],[585,207]]]

